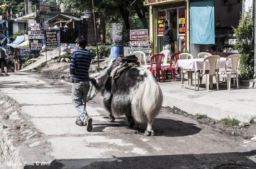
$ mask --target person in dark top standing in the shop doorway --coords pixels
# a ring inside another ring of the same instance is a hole
[[[173,45],[173,30],[168,26],[168,21],[164,22],[164,49],[170,51],[171,55],[171,45]]]

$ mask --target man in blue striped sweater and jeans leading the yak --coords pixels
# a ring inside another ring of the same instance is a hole
[[[86,112],[86,99],[90,89],[88,70],[92,54],[86,47],[86,39],[81,36],[76,39],[77,49],[71,54],[70,74],[72,78],[72,99],[78,110],[76,125],[92,130],[92,118]]]

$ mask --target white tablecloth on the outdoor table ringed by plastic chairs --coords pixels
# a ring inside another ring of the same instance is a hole
[[[217,63],[216,66],[218,66],[219,69],[224,69],[226,64],[226,58],[220,58],[219,63]],[[228,67],[232,66],[231,59],[228,61]],[[175,68],[178,69],[178,67],[184,68],[184,69],[192,69],[194,71],[202,70],[204,68],[204,59],[203,58],[196,58],[196,59],[179,59],[177,60],[175,64]],[[205,63],[205,69],[209,69],[209,63]]]

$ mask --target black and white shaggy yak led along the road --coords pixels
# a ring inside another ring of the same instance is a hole
[[[103,96],[104,106],[109,111],[110,121],[125,115],[129,126],[141,125],[147,121],[145,135],[153,135],[152,122],[161,109],[163,94],[151,71],[134,66],[112,79],[110,70],[90,75],[90,90],[87,100],[98,92]]]

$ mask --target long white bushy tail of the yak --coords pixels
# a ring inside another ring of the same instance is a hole
[[[149,70],[141,69],[144,80],[137,86],[137,91],[132,98],[132,116],[135,121],[152,121],[159,113],[163,103],[163,93],[154,76]]]

